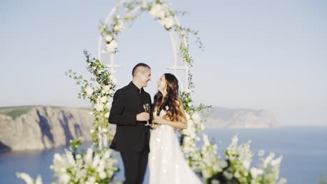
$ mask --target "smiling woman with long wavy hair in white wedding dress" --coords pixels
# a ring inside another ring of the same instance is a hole
[[[150,184],[202,183],[189,167],[174,129],[187,128],[177,78],[165,73],[157,81],[158,93],[152,105],[153,130],[150,137]]]

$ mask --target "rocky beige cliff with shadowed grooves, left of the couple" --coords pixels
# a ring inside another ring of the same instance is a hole
[[[1,107],[0,151],[56,148],[77,137],[90,141],[92,121],[87,109]]]

